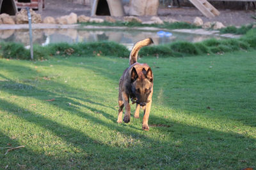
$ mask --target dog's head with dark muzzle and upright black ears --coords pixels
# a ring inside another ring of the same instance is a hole
[[[144,67],[141,71],[136,71],[132,67],[131,71],[132,93],[137,98],[136,103],[145,106],[148,101],[148,96],[152,91],[153,73],[150,67],[146,70]]]

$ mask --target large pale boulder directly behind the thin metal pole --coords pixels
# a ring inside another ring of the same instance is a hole
[[[33,24],[41,23],[42,18],[41,15],[33,11],[32,9],[29,10],[31,13],[31,22]],[[21,9],[15,15],[16,24],[28,24],[28,12],[25,9]]]

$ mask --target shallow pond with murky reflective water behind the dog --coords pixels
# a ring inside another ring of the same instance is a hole
[[[33,29],[33,43],[48,45],[50,43],[79,43],[92,41],[115,41],[127,46],[129,49],[137,41],[151,37],[155,45],[171,43],[173,41],[198,42],[220,36],[189,34],[184,32],[142,31],[136,29]],[[165,34],[164,34],[165,33]],[[0,41],[19,42],[29,45],[28,29],[0,30]]]

